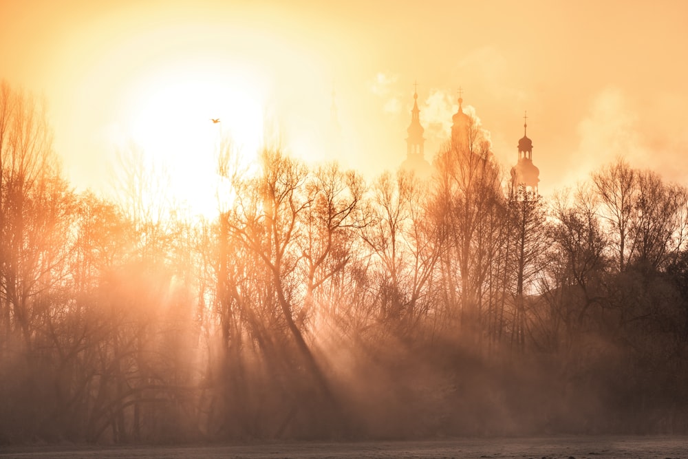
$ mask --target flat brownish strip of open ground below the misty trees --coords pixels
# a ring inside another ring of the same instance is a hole
[[[263,442],[213,446],[0,447],[0,458],[688,458],[686,436],[480,438],[431,441]]]

